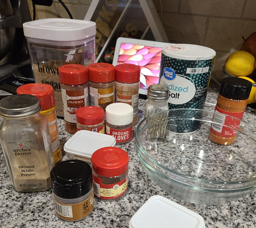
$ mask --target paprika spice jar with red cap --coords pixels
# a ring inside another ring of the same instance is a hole
[[[77,132],[75,111],[89,105],[87,68],[79,64],[59,67],[59,81],[64,109],[65,130]]]

